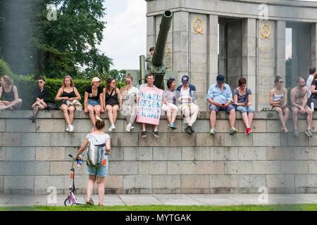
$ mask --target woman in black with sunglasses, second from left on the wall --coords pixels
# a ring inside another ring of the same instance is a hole
[[[30,117],[32,122],[35,122],[35,116],[39,110],[47,108],[46,98],[48,92],[49,90],[45,87],[45,79],[39,77],[39,79],[37,79],[37,87],[34,89],[34,103],[32,104],[33,115]]]

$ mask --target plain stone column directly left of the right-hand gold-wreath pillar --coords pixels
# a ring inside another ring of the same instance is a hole
[[[242,20],[242,76],[252,91],[252,104],[256,107],[256,19]]]

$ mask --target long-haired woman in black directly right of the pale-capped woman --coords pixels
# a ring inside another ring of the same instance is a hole
[[[111,122],[111,126],[108,131],[116,129],[115,123],[118,115],[118,111],[121,109],[122,98],[119,89],[116,87],[116,79],[106,79],[106,87],[104,88],[104,99],[106,103],[106,110]]]

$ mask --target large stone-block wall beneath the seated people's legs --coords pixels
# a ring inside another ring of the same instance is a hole
[[[92,129],[89,117],[75,112],[75,131],[66,133],[61,111],[39,112],[35,124],[27,119],[30,115],[31,110],[0,113],[0,194],[47,194],[50,186],[66,194],[68,154],[75,155]],[[281,134],[275,112],[256,112],[250,136],[243,133],[240,113],[235,136],[228,134],[223,112],[218,114],[216,136],[209,135],[206,113],[201,113],[192,135],[183,131],[180,116],[173,131],[162,117],[159,139],[151,134],[151,126],[147,138],[140,136],[140,124],[126,132],[126,121],[119,118],[110,134],[106,193],[258,193],[261,186],[269,193],[316,193],[317,114],[313,117],[311,138],[304,134],[302,117],[299,137],[292,134],[291,119],[290,133]],[[108,126],[106,120],[106,131]],[[85,193],[85,162],[75,173],[77,191]]]

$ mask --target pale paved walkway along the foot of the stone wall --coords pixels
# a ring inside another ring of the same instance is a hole
[[[0,207],[63,205],[66,195],[57,195],[56,203],[49,203],[53,198],[48,195],[0,195]],[[84,195],[76,196],[84,201]],[[105,195],[104,205],[260,205],[265,199],[259,194],[147,194],[147,195]],[[260,200],[259,200],[260,198]],[[98,203],[98,195],[92,200]],[[269,194],[268,204],[317,204],[317,194]],[[265,203],[265,202],[264,202]]]

